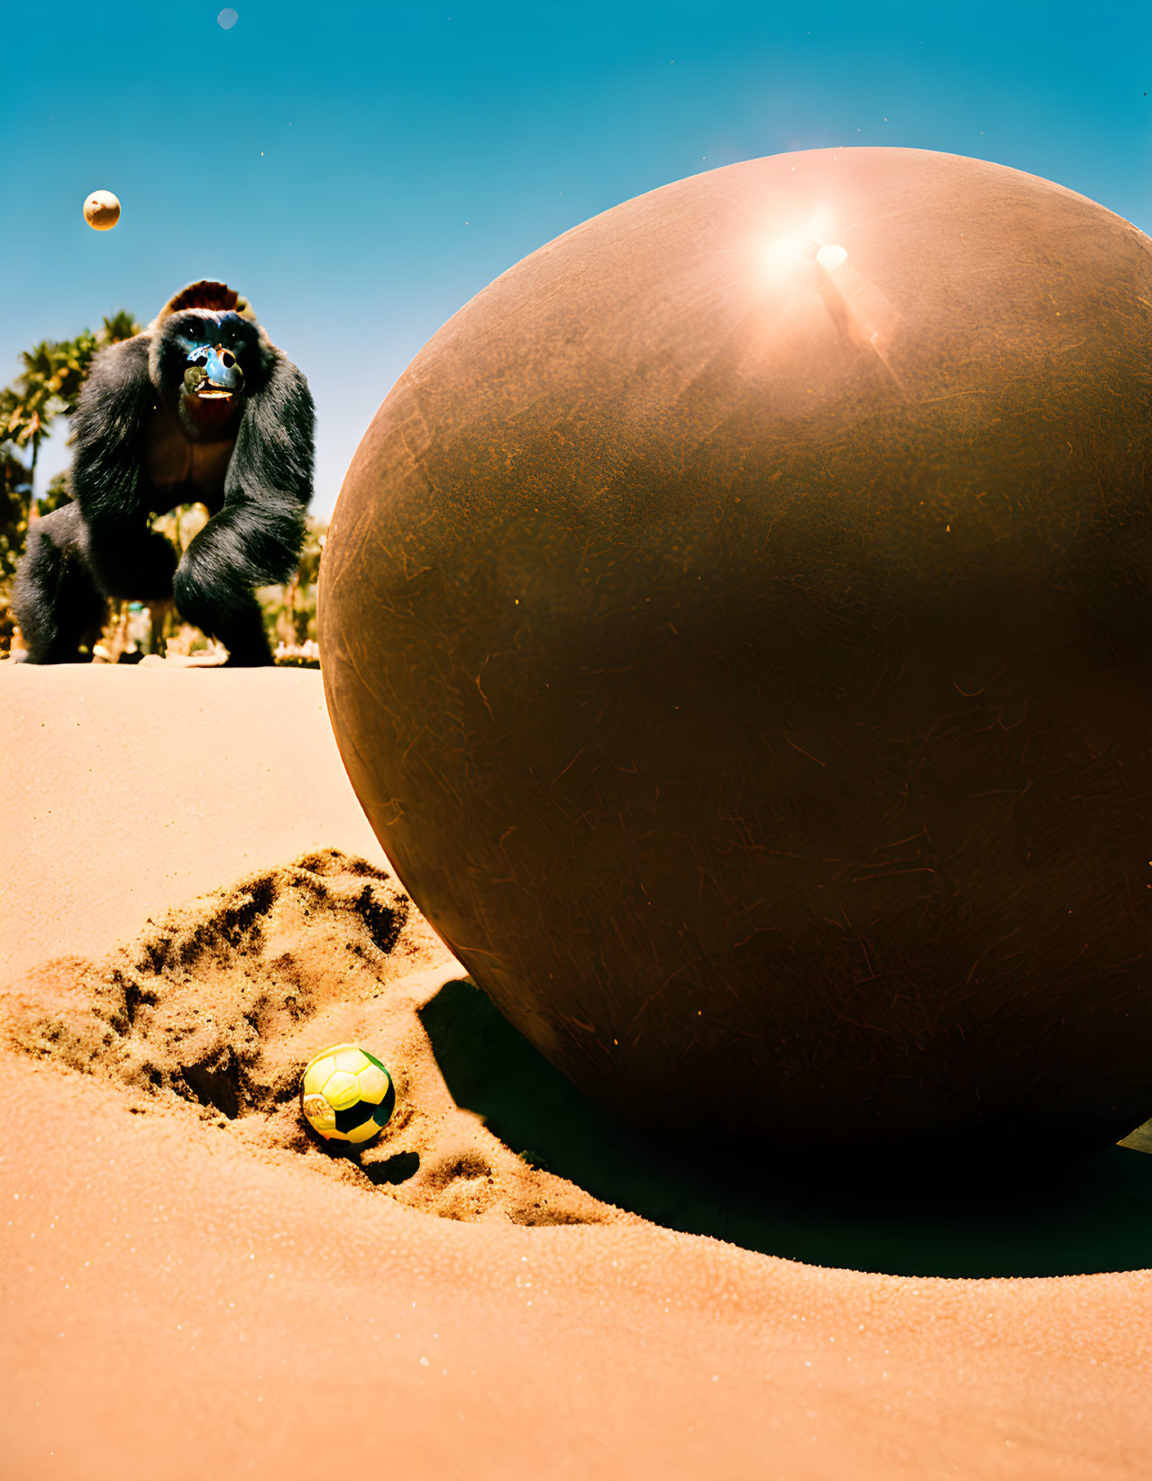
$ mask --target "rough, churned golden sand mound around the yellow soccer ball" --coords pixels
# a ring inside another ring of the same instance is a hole
[[[338,850],[167,911],[101,963],[33,969],[4,1004],[9,1043],[123,1087],[141,1115],[210,1126],[267,1161],[466,1222],[638,1223],[532,1167],[452,1100],[419,1010],[456,963],[386,874]],[[397,1109],[357,1157],[299,1114],[329,1044],[382,1056]],[[209,1143],[212,1139],[209,1139]]]

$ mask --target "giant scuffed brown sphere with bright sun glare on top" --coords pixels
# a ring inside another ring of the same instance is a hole
[[[413,360],[329,532],[329,709],[582,1089],[780,1146],[1152,1115],[1149,345],[1121,218],[826,150],[585,222]]]

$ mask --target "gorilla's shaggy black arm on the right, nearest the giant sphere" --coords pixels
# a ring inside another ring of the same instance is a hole
[[[234,663],[269,663],[253,586],[290,579],[312,496],[315,410],[308,382],[283,354],[249,394],[224,508],[188,545],[173,579],[181,615],[228,649]]]

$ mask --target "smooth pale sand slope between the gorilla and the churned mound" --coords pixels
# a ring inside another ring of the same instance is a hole
[[[385,865],[315,671],[0,674],[0,982],[61,952],[101,954],[150,915],[309,849]]]

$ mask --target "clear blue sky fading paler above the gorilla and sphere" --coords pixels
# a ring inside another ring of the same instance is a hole
[[[686,175],[828,145],[943,150],[1152,233],[1146,0],[232,7],[224,30],[219,0],[0,6],[0,384],[33,341],[115,308],[147,321],[222,277],[312,385],[321,515],[446,318]],[[84,224],[93,190],[120,197],[114,231]]]

